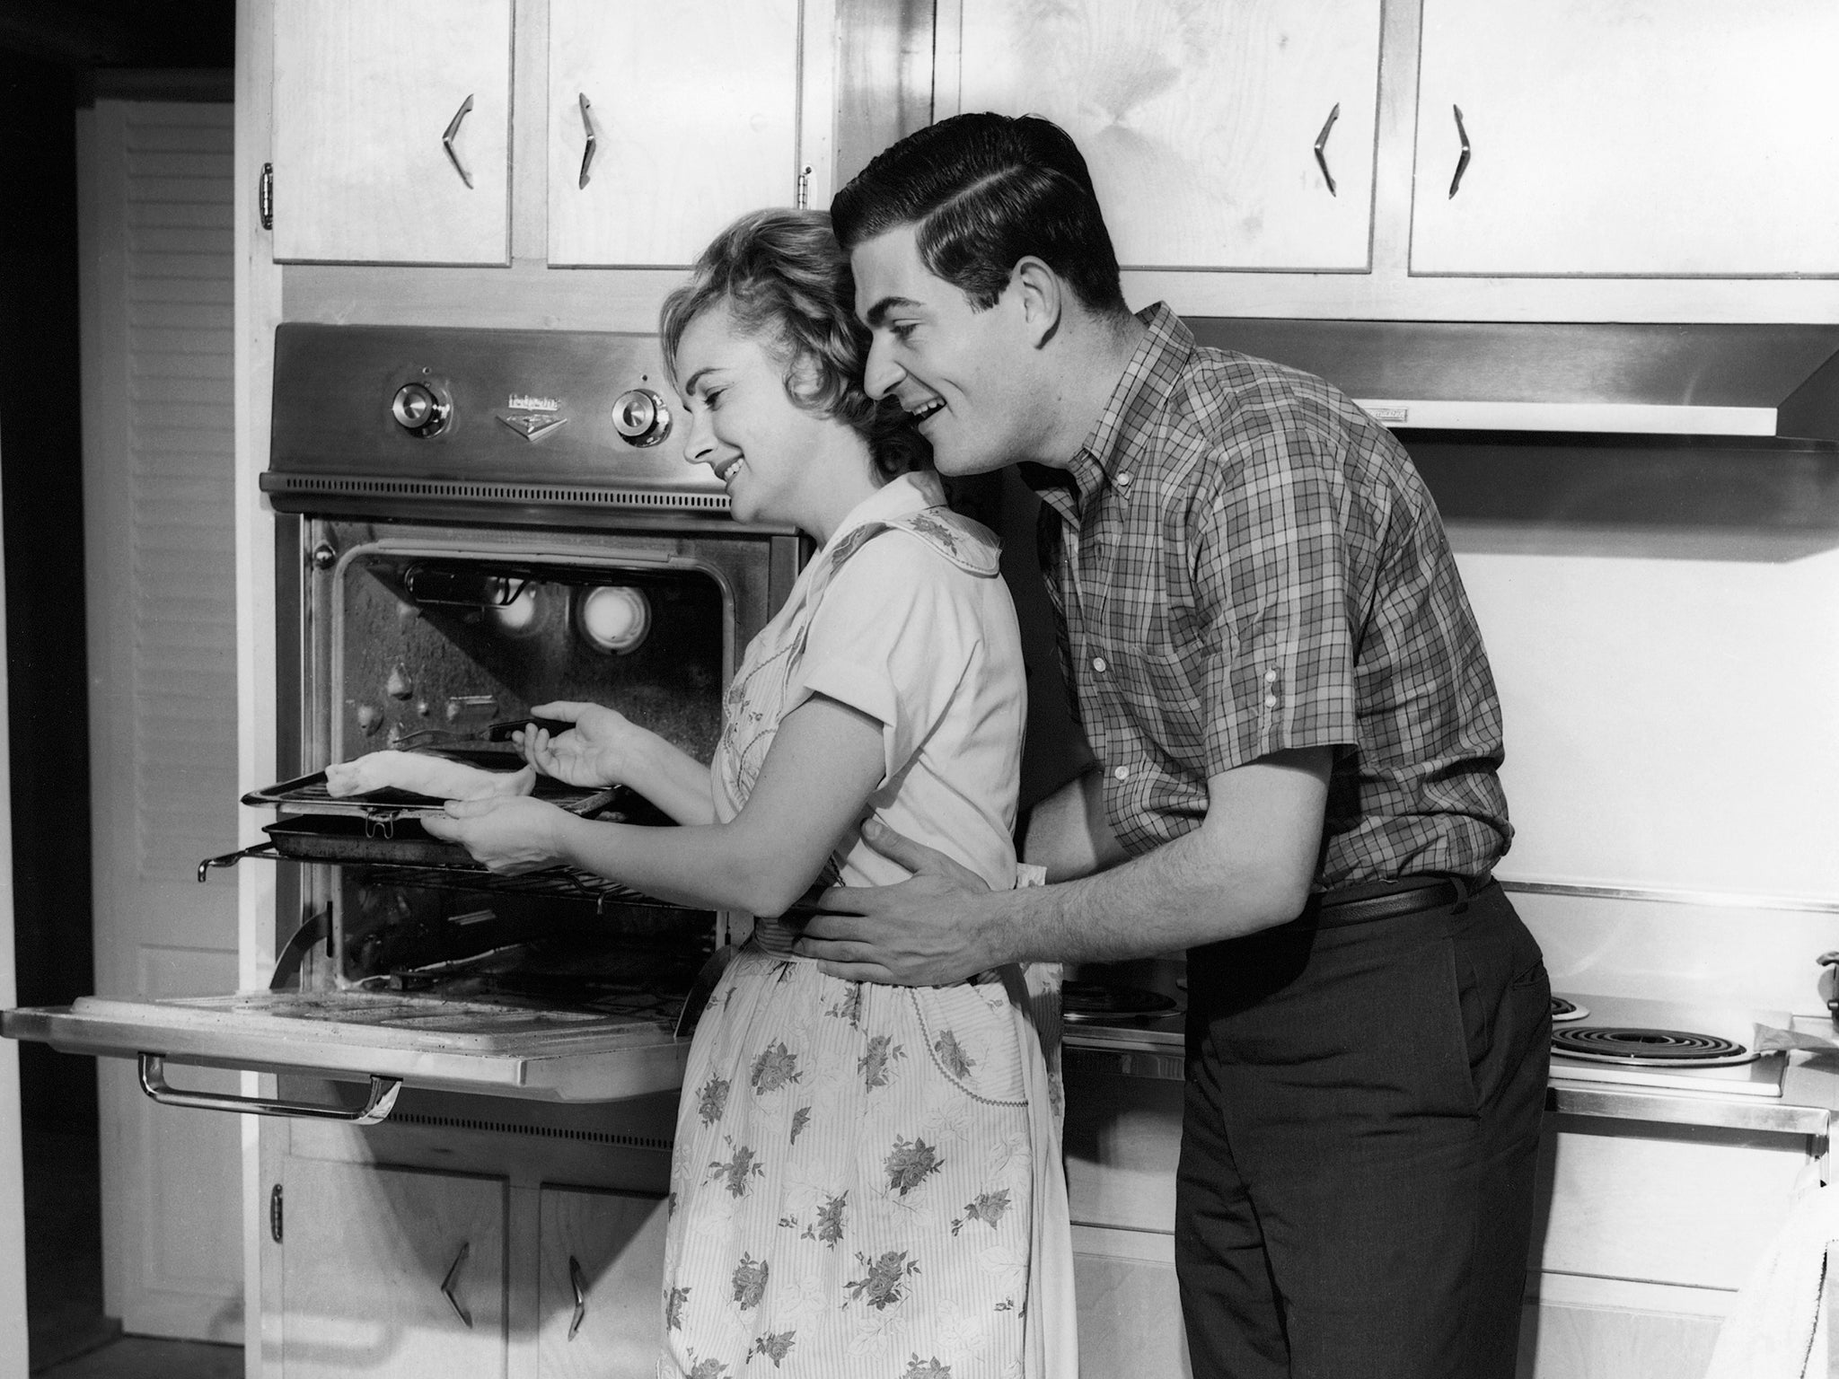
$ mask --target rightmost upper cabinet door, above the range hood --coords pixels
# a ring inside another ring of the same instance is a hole
[[[1835,61],[1832,0],[1423,0],[1411,270],[1839,274]]]

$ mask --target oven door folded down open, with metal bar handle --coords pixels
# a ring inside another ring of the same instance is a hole
[[[690,1054],[688,1039],[653,1020],[417,1002],[366,991],[243,991],[180,1000],[83,997],[74,1006],[0,1011],[0,1035],[46,1043],[64,1054],[140,1057],[142,1085],[154,1100],[272,1114],[287,1111],[173,1092],[164,1087],[164,1065],[368,1077],[373,1101],[394,1087],[616,1101],[680,1087]],[[160,1096],[162,1090],[171,1096]],[[394,1100],[394,1090],[388,1096]]]

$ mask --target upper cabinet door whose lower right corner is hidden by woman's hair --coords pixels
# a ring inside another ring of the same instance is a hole
[[[798,9],[550,0],[550,265],[690,265],[794,202]]]

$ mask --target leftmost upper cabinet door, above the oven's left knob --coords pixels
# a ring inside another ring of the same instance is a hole
[[[274,6],[278,261],[509,263],[509,147],[511,0]]]

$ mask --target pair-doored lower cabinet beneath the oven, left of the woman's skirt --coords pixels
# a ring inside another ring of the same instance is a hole
[[[250,1373],[651,1379],[673,1120],[675,1094],[531,1111],[405,1092],[368,1129],[267,1122]]]

